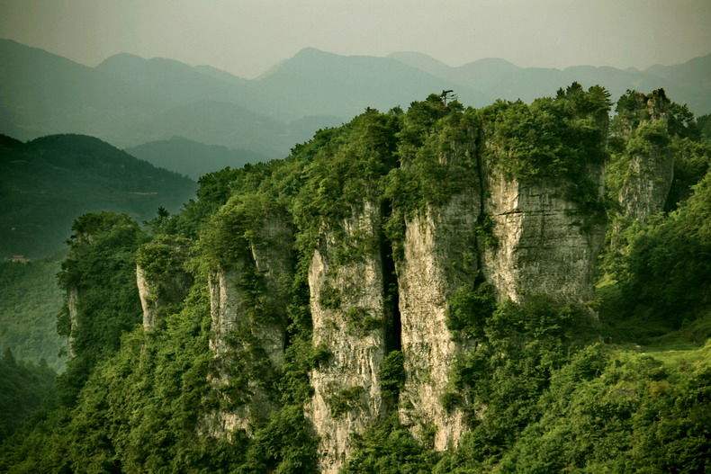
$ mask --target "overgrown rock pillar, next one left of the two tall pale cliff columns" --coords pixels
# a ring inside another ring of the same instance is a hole
[[[230,390],[238,392],[238,399],[225,396],[229,408],[206,420],[206,431],[214,436],[240,429],[251,434],[266,421],[278,396],[270,383],[284,363],[292,229],[284,219],[266,217],[254,240],[260,245],[247,243],[241,258],[229,268],[215,269],[208,280],[210,347],[218,362],[211,382],[220,389],[228,389],[235,379],[241,383]]]

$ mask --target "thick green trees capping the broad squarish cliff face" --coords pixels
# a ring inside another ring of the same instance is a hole
[[[494,103],[482,110],[485,164],[524,182],[563,181],[568,199],[600,210],[590,171],[607,157],[609,107],[604,88],[584,91],[577,83],[530,105]]]

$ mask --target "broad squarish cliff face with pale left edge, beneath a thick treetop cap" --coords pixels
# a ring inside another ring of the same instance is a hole
[[[590,174],[601,182],[599,169]],[[564,197],[563,185],[488,175],[490,197],[484,206],[494,222],[496,248],[483,253],[484,271],[500,298],[520,301],[545,293],[590,299],[604,228]]]

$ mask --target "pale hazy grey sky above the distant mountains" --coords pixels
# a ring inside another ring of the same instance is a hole
[[[130,52],[247,77],[306,46],[643,68],[711,52],[711,0],[0,0],[0,37],[90,66]]]

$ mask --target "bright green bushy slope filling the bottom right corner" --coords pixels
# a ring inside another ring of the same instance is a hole
[[[673,366],[591,345],[554,373],[499,471],[704,472],[709,377],[703,359]]]

